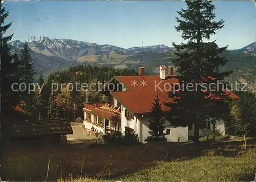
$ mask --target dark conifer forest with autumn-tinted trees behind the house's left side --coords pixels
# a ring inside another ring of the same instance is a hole
[[[86,102],[87,93],[84,89],[81,89],[82,83],[90,84],[92,82],[104,83],[109,81],[115,75],[137,75],[138,73],[132,69],[114,69],[108,66],[92,66],[92,65],[78,65],[70,67],[70,69],[62,72],[56,72],[50,74],[44,81],[42,76],[37,82],[43,87],[41,93],[34,93],[33,109],[29,112],[40,119],[54,119],[54,118],[69,118],[75,119],[78,116],[82,116],[83,103]],[[67,85],[72,83],[73,89]],[[77,88],[75,88],[75,84]],[[52,85],[59,86],[59,89],[52,87]],[[62,90],[60,84],[63,84]],[[56,92],[52,92],[52,88],[56,89]],[[95,89],[95,88],[94,88]],[[62,91],[62,92],[60,92]],[[53,95],[51,94],[53,93]],[[95,96],[95,92],[89,89],[88,101],[89,102],[103,102],[108,101],[108,98],[102,98]]]

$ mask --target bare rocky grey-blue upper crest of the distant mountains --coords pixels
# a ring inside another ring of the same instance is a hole
[[[22,49],[24,42],[15,40],[9,43],[13,50]],[[111,51],[120,51],[124,54],[138,53],[141,51],[165,51],[170,48],[166,45],[152,45],[146,47],[133,47],[124,49],[116,47],[115,45],[99,45],[97,43],[90,43],[71,39],[49,39],[43,37],[42,40],[29,42],[29,47],[36,53],[41,53],[46,56],[57,56],[67,61],[72,61],[81,56],[109,54]]]

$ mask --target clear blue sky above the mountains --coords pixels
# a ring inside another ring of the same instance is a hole
[[[216,20],[225,27],[210,40],[228,49],[256,41],[256,5],[252,1],[214,1]],[[5,35],[67,38],[122,48],[183,42],[176,32],[177,11],[183,1],[5,1],[12,21]],[[39,18],[40,21],[34,20]]]

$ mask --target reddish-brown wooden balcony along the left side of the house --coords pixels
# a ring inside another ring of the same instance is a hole
[[[117,112],[100,108],[104,104],[106,103],[87,103],[83,105],[83,108],[91,110],[90,112],[97,116],[100,116],[115,122],[121,122],[121,113],[118,114]]]

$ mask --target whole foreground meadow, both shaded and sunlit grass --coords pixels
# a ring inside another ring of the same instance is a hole
[[[9,145],[5,181],[253,181],[255,139],[89,147]]]

